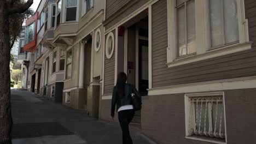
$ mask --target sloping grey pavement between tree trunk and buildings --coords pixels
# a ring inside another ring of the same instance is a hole
[[[86,113],[27,91],[11,90],[13,143],[120,144],[121,129],[117,122],[101,121]],[[133,143],[154,143],[131,128]]]

